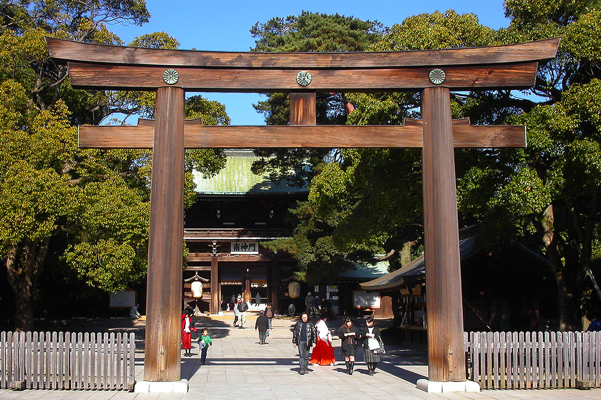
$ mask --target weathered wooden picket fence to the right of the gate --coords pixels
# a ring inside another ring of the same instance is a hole
[[[468,379],[489,389],[601,387],[601,332],[465,332]]]

